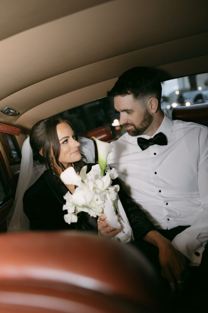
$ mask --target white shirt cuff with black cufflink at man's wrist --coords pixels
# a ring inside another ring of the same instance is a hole
[[[173,247],[186,256],[192,263],[200,264],[204,247],[196,239],[187,233],[179,233],[172,240]]]

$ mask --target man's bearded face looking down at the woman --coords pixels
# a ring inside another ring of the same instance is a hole
[[[130,94],[114,97],[114,107],[120,112],[120,125],[126,126],[130,136],[145,135],[153,119],[146,106]]]

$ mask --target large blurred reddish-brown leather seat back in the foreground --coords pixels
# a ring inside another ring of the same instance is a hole
[[[133,247],[77,231],[0,236],[1,313],[160,311],[152,267]]]

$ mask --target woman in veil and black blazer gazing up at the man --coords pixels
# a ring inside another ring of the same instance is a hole
[[[108,226],[108,221],[104,221],[104,214],[97,221],[88,213],[80,212],[77,223],[65,223],[64,214],[67,212],[62,209],[65,204],[63,196],[68,191],[73,194],[75,186],[65,185],[60,180],[60,174],[71,166],[76,172],[80,172],[85,165],[81,161],[80,150],[91,162],[87,164],[87,172],[89,172],[94,165],[94,144],[89,139],[81,137],[78,141],[68,120],[50,117],[37,122],[32,127],[30,139],[25,141],[22,149],[14,213],[12,219],[10,216],[8,231],[30,228],[31,230],[82,229],[97,232],[99,229],[100,235],[110,238],[122,230]],[[115,183],[119,182],[115,181]],[[142,238],[152,227],[151,223],[145,213],[130,200],[121,185],[119,198],[133,228],[134,237]]]

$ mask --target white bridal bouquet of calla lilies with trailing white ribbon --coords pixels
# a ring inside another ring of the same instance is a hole
[[[123,227],[122,231],[112,239],[125,243],[131,240],[132,229],[119,200],[119,185],[112,186],[112,179],[118,177],[118,173],[115,168],[110,169],[106,166],[107,156],[113,151],[113,146],[93,138],[98,147],[99,164],[92,166],[89,173],[86,172],[87,166],[84,166],[80,173],[76,173],[73,167],[68,167],[60,175],[65,184],[78,186],[73,194],[68,191],[64,196],[66,204],[63,210],[68,212],[64,215],[64,219],[70,224],[77,222],[77,214],[81,211],[93,217],[105,213],[110,226]],[[120,218],[116,214],[116,209],[120,213]]]

